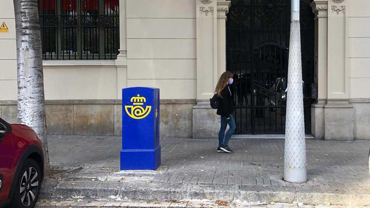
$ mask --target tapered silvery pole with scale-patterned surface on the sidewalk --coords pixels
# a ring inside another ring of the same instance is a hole
[[[302,60],[299,0],[292,0],[290,22],[288,86],[286,103],[284,180],[307,181],[305,119],[303,114]]]

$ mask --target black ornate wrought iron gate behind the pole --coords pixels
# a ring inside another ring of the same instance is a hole
[[[300,0],[305,131],[311,132],[314,14]],[[235,134],[285,132],[290,0],[231,0],[226,69],[234,74]]]

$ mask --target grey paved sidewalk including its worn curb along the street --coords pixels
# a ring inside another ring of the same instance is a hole
[[[85,195],[89,195],[89,190],[95,190],[95,198],[131,197],[134,200],[141,199],[141,191],[149,200],[158,199],[156,195],[161,193],[161,200],[169,196],[185,199],[199,195],[228,201],[292,203],[300,199],[333,204],[336,200],[348,205],[370,202],[370,141],[365,140],[306,140],[308,181],[303,184],[282,180],[282,139],[232,139],[229,145],[234,153],[226,154],[216,152],[218,142],[214,139],[161,138],[162,166],[157,171],[123,172],[118,172],[120,137],[49,135],[48,142],[54,169],[80,167],[57,176],[59,181],[52,183],[57,184],[57,188],[44,193],[54,197],[68,194],[78,197],[78,193],[85,191]],[[74,187],[85,189],[79,191]],[[104,194],[99,195],[98,189]],[[135,191],[137,193],[131,194]],[[157,193],[153,195],[151,191]],[[302,193],[310,194],[303,199]],[[319,196],[325,194],[326,198],[320,199]],[[358,200],[361,202],[356,202]]]

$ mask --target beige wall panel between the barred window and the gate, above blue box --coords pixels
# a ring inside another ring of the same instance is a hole
[[[196,98],[195,0],[127,0],[127,86]],[[118,98],[120,99],[120,98]]]

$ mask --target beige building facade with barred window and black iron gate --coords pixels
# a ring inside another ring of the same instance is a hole
[[[17,116],[13,3],[0,8],[0,115]],[[47,131],[121,135],[121,89],[160,88],[161,136],[216,138],[234,74],[236,134],[285,132],[290,0],[38,0]],[[300,0],[305,130],[370,138],[370,1]],[[1,30],[1,28],[0,28]]]

